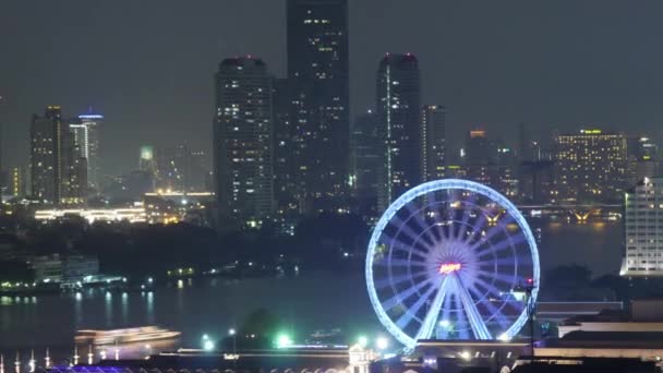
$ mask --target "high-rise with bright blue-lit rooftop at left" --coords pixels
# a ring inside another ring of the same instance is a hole
[[[104,125],[104,116],[82,113],[69,123],[80,156],[87,161],[87,186],[99,191],[99,128]]]

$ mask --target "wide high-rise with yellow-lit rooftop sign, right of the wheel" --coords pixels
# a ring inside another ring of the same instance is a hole
[[[626,185],[626,136],[580,130],[555,137],[555,188],[559,200],[618,201]]]

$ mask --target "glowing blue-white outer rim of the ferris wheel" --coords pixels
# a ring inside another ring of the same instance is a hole
[[[417,340],[412,338],[410,335],[405,333],[395,322],[389,317],[386,311],[383,308],[382,301],[378,299],[373,278],[373,257],[375,254],[375,249],[378,245],[378,240],[387,227],[387,225],[391,221],[394,216],[407,204],[414,201],[418,197],[424,196],[429,193],[444,191],[444,190],[461,190],[469,191],[479,195],[482,195],[489,198],[493,203],[497,203],[502,208],[504,208],[508,215],[514,219],[514,221],[518,225],[520,231],[525,236],[525,240],[528,245],[529,253],[531,255],[531,264],[532,264],[532,276],[533,276],[533,289],[531,291],[531,297],[527,304],[525,304],[522,311],[516,318],[516,321],[508,327],[507,330],[503,333],[503,335],[497,336],[497,339],[510,339],[513,338],[527,323],[529,318],[528,308],[531,303],[535,302],[539,293],[540,287],[540,262],[539,262],[539,250],[537,246],[537,241],[534,236],[527,224],[527,220],[518,210],[516,205],[514,205],[507,197],[493,190],[490,186],[483,185],[481,183],[462,180],[462,179],[441,179],[434,180],[430,182],[425,182],[418,186],[414,186],[408,190],[406,193],[400,195],[396,201],[394,201],[387,209],[383,213],[381,218],[378,219],[373,232],[371,234],[371,239],[369,241],[369,250],[366,254],[366,263],[365,263],[365,277],[366,277],[366,286],[369,291],[369,299],[373,306],[373,310],[377,314],[379,322],[385,326],[387,332],[391,334],[398,341],[405,345],[407,348],[413,348],[417,344]]]

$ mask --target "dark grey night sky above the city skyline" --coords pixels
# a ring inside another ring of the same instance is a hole
[[[661,134],[660,0],[350,2],[354,112],[373,104],[383,53],[409,51],[451,140],[518,122]],[[282,76],[285,23],[285,0],[0,1],[7,164],[26,163],[29,117],[48,104],[106,115],[108,172],[135,167],[141,144],[208,149],[218,62],[252,53]]]

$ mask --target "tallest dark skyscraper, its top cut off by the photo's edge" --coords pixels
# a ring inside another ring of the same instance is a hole
[[[288,0],[287,17],[297,194],[301,209],[336,209],[349,175],[348,1]]]

